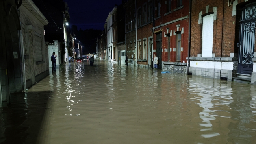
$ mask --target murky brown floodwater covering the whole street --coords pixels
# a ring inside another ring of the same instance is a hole
[[[12,96],[3,144],[256,144],[256,86],[86,60]]]

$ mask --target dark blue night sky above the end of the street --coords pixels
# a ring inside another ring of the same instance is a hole
[[[105,20],[115,4],[122,0],[63,0],[69,7],[70,25],[76,25],[78,30],[104,29]]]

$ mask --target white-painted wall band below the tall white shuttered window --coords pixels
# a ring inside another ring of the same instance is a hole
[[[191,67],[197,68],[214,68],[222,70],[233,70],[233,62],[220,61],[190,61]]]

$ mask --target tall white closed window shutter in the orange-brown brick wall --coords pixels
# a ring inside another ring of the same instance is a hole
[[[213,47],[213,14],[203,17],[202,57],[212,57]]]

